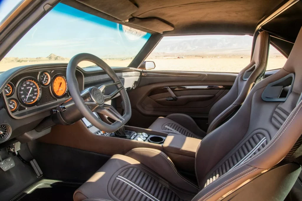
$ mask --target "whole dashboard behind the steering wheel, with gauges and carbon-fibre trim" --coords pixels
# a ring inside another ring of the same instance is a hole
[[[72,98],[66,82],[66,69],[67,64],[59,63],[27,65],[0,72],[0,131],[7,133],[3,135],[0,132],[0,146],[5,146],[4,142],[7,141],[21,141],[24,133],[38,134],[35,129],[52,117],[54,109]],[[113,69],[127,91],[139,86],[141,70]],[[99,67],[77,68],[76,79],[80,91],[112,83],[111,78]],[[108,87],[104,94],[108,95],[114,90],[115,86]],[[46,131],[44,134],[47,134]]]

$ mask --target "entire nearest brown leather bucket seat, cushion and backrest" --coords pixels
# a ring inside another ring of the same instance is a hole
[[[113,155],[76,190],[74,201],[283,200],[300,165],[279,183],[284,171],[269,173],[301,162],[301,55],[302,29],[284,67],[255,85],[236,114],[201,140],[195,181],[182,175],[163,151],[135,148]]]

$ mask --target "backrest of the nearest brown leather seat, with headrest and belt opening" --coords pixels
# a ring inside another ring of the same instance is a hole
[[[217,200],[293,152],[302,133],[301,55],[302,29],[284,67],[256,84],[238,112],[201,141],[193,200]]]

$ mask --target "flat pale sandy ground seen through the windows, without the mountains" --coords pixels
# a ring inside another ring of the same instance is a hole
[[[111,67],[127,67],[131,60],[105,58],[105,62]],[[230,72],[237,73],[250,62],[250,57],[242,56],[178,56],[169,57],[148,57],[147,61],[154,61],[158,71],[204,71],[204,72]],[[48,64],[48,63],[68,63],[69,58],[63,58],[54,54],[45,58],[3,58],[0,61],[0,71],[33,64]],[[284,66],[286,58],[283,56],[271,56],[268,58],[267,70],[278,69]],[[79,64],[84,68],[94,65],[89,61],[83,61]]]

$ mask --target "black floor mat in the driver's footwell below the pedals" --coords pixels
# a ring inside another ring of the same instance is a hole
[[[81,183],[43,179],[11,201],[72,201],[73,193]]]

